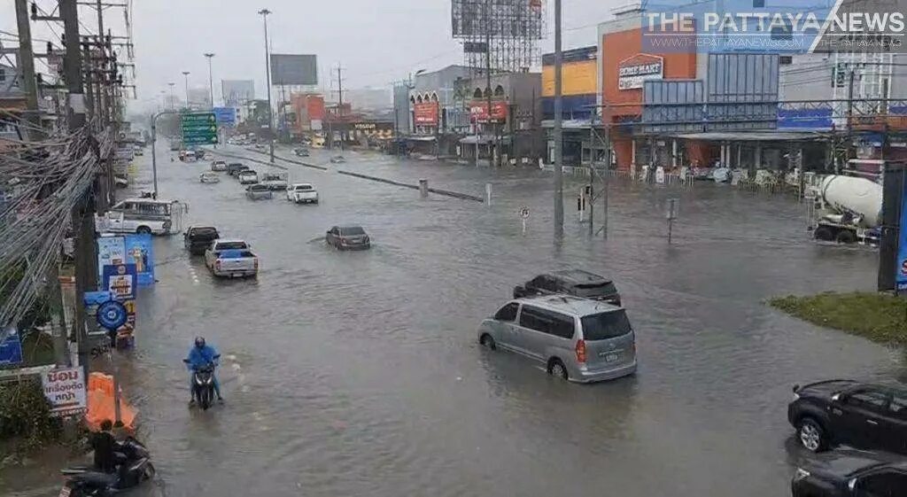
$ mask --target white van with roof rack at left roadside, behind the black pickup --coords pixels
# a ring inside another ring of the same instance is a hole
[[[170,235],[182,230],[185,204],[175,200],[127,199],[95,218],[101,233]]]

